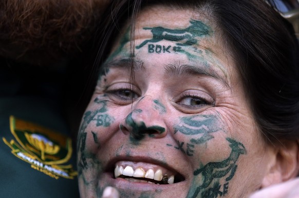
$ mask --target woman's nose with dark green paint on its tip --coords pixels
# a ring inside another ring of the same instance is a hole
[[[154,100],[143,98],[120,123],[120,130],[125,134],[129,133],[133,142],[146,136],[163,138],[166,136],[166,124],[162,114],[156,108]]]

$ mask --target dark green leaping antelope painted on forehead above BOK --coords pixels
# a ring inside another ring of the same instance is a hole
[[[136,46],[136,49],[140,49],[146,43],[157,43],[162,40],[166,41],[182,41],[185,43],[177,43],[177,45],[194,45],[197,43],[195,37],[203,37],[209,35],[211,28],[201,21],[191,20],[191,25],[185,29],[167,29],[163,27],[145,27],[145,30],[151,30],[153,33],[153,39],[145,40],[140,45]]]

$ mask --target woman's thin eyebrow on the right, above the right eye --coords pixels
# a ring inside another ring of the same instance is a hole
[[[198,76],[198,75],[204,75],[208,77],[212,77],[218,81],[220,81],[225,86],[230,87],[228,81],[226,78],[223,78],[220,76],[215,70],[211,68],[210,65],[203,65],[203,64],[197,64],[197,65],[190,65],[190,64],[180,64],[178,62],[170,63],[164,65],[164,72],[167,76],[184,76],[184,75],[191,75],[191,76]]]

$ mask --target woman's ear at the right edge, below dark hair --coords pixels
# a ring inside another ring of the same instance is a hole
[[[299,140],[286,140],[273,146],[270,167],[261,188],[288,181],[299,173]]]

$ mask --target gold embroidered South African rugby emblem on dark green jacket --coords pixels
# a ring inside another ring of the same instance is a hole
[[[15,137],[9,142],[16,157],[31,164],[31,168],[53,178],[74,178],[77,172],[67,163],[72,154],[71,139],[41,125],[10,116],[10,131]]]

